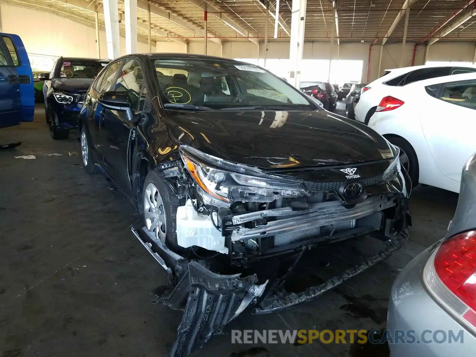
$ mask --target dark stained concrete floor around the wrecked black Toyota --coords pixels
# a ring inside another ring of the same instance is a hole
[[[167,356],[181,312],[153,304],[165,275],[130,233],[138,216],[101,175],[83,171],[77,138],[52,140],[41,107],[33,123],[0,130],[0,143],[22,141],[0,150],[1,357]],[[192,356],[388,356],[385,346],[232,345],[230,330],[384,327],[392,281],[445,235],[456,202],[418,187],[410,238],[392,257],[292,310],[246,311]]]

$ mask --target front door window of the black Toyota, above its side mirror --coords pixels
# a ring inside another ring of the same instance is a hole
[[[126,92],[132,108],[138,108],[139,97],[144,85],[144,73],[137,60],[126,60],[114,85],[114,91]]]

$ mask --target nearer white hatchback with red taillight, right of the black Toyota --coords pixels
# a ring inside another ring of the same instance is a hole
[[[414,186],[459,192],[461,168],[476,151],[476,73],[388,87],[380,96],[368,126],[400,148]]]

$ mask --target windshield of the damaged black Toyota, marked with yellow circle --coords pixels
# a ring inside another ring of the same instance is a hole
[[[166,107],[317,109],[297,89],[258,66],[195,58],[151,60]]]

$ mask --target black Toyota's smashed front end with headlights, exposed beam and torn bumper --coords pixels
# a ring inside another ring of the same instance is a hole
[[[182,146],[181,159],[159,166],[182,202],[179,249],[157,241],[142,224],[132,231],[168,275],[169,284],[155,290],[159,302],[184,310],[170,356],[202,347],[247,307],[266,314],[309,301],[400,248],[408,237],[411,184],[397,150],[352,169],[281,167],[270,173]],[[286,291],[286,281],[314,248],[362,236],[383,248],[316,286]],[[256,268],[276,257],[276,268]]]

